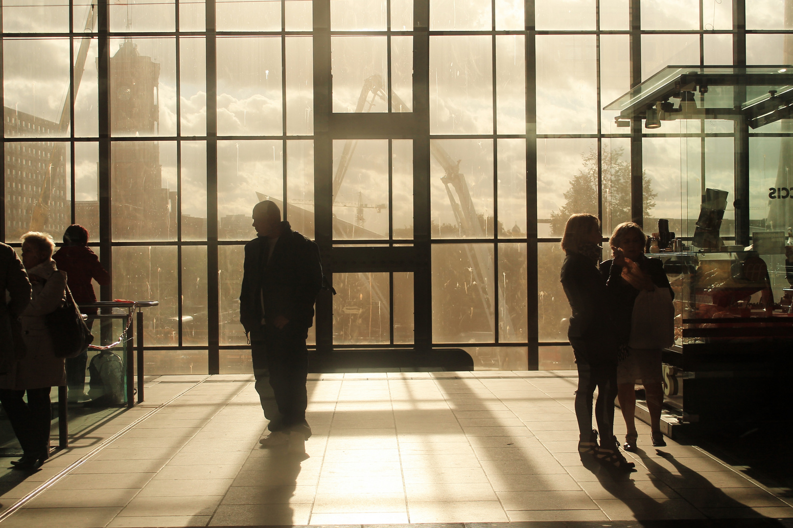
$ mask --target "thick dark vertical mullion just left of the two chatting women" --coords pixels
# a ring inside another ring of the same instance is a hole
[[[534,0],[524,0],[526,42],[526,259],[527,369],[539,368],[538,238],[537,238],[537,31]]]

